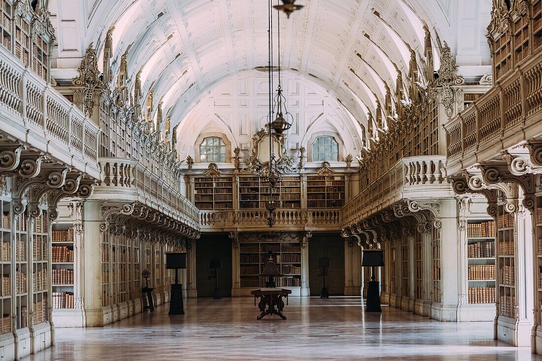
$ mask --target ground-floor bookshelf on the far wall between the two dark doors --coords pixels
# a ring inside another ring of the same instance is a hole
[[[267,252],[273,256],[282,277],[275,279],[278,287],[301,287],[301,244],[300,242],[265,242],[240,244],[240,287],[263,287],[266,277],[260,274],[268,262]]]

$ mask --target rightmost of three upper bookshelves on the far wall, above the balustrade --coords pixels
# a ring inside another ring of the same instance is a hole
[[[307,208],[340,208],[346,199],[344,175],[307,176]]]

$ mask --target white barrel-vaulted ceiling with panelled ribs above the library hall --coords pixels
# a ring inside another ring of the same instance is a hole
[[[453,0],[298,3],[305,8],[290,19],[281,14],[281,67],[320,84],[360,122],[374,114],[376,99],[384,103],[385,86],[395,93],[396,69],[407,78],[409,47],[424,65],[423,24],[436,61],[441,40],[453,38]],[[130,86],[141,71],[143,94],[154,89],[155,109],[163,102],[172,126],[228,78],[267,65],[266,0],[87,0],[86,6],[87,43],[101,50],[114,26],[114,73],[126,52]]]

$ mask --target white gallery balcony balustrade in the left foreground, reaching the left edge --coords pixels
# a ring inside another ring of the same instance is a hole
[[[94,179],[99,127],[42,77],[0,47],[0,132]]]

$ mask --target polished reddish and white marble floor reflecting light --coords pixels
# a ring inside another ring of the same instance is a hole
[[[493,340],[491,322],[438,322],[355,297],[291,298],[287,320],[256,320],[251,298],[188,299],[105,327],[56,329],[56,345],[24,360],[542,360]]]

